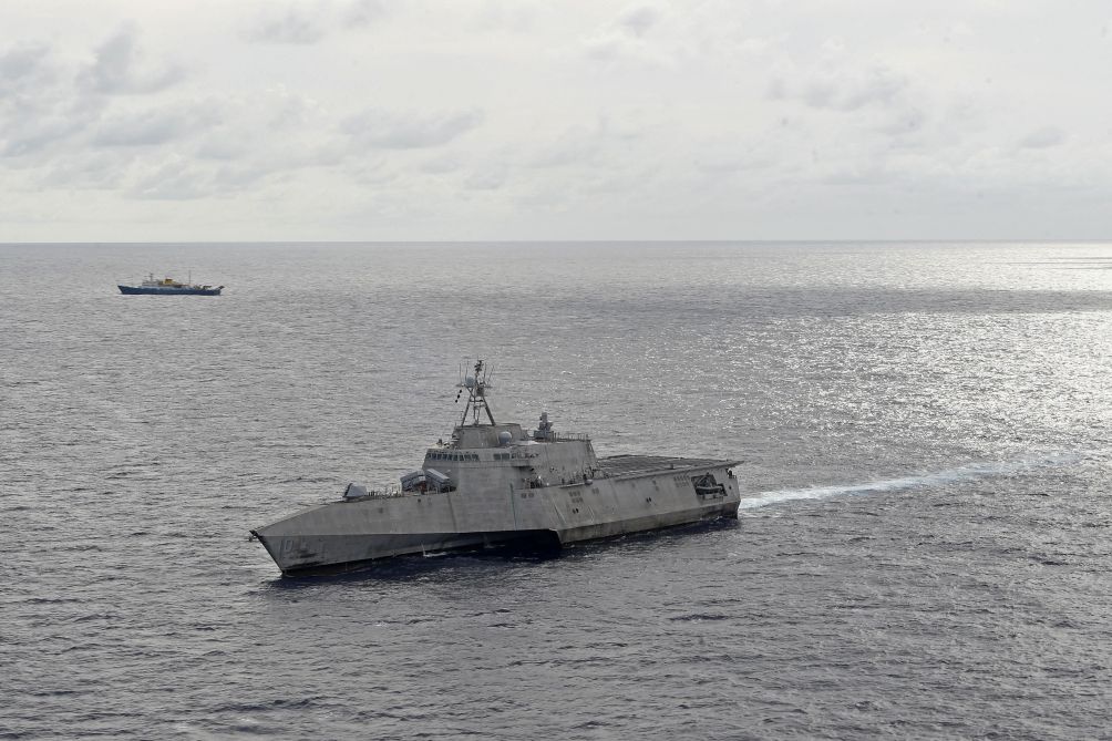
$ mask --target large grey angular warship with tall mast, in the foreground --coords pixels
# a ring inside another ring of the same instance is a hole
[[[252,530],[284,574],[410,553],[566,543],[737,517],[737,461],[616,455],[584,434],[495,422],[483,362],[466,375],[463,418],[401,485],[344,496]]]

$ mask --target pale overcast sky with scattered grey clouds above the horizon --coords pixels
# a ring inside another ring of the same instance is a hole
[[[1106,0],[4,0],[0,241],[1112,238]]]

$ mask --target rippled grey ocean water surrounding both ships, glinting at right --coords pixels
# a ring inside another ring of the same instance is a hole
[[[738,522],[280,579],[475,357]],[[1108,244],[0,246],[0,738],[1112,738],[1110,369]]]

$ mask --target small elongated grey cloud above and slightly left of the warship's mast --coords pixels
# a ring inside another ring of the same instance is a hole
[[[420,115],[373,108],[349,118],[342,129],[370,148],[425,149],[446,145],[481,122],[478,110]]]

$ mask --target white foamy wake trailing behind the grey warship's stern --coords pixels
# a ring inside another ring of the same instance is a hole
[[[754,496],[742,497],[742,510],[753,510],[764,507],[778,502],[792,502],[795,500],[825,500],[831,496],[843,496],[852,494],[872,494],[875,492],[898,492],[911,488],[925,488],[942,484],[953,484],[977,478],[991,478],[993,476],[1010,476],[1039,468],[1056,468],[1081,461],[1084,456],[1080,454],[1053,454],[1037,458],[1022,461],[1002,461],[995,463],[974,463],[949,471],[921,474],[916,476],[904,476],[902,478],[886,478],[866,484],[850,484],[846,486],[815,486],[812,488],[784,488],[774,492],[761,492]]]

